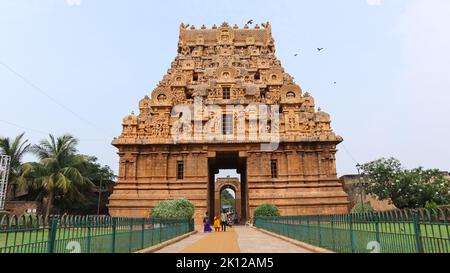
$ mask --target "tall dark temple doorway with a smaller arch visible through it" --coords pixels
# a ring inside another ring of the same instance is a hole
[[[218,178],[219,170],[236,170],[239,178]],[[247,159],[239,152],[210,152],[208,155],[208,211],[211,219],[220,215],[220,193],[231,188],[236,193],[236,212],[240,223],[248,219]]]

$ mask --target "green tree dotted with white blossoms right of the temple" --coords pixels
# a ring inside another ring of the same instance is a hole
[[[406,170],[395,158],[369,162],[362,170],[366,191],[381,200],[390,199],[397,208],[423,208],[427,202],[450,203],[450,181],[439,170]]]

